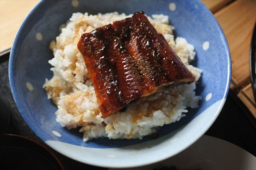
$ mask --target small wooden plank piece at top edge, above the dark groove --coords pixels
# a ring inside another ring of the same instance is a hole
[[[212,12],[215,13],[230,2],[232,0],[201,0],[205,6]]]

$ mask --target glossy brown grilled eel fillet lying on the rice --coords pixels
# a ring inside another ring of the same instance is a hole
[[[78,49],[103,118],[154,92],[195,80],[143,12],[84,33]]]

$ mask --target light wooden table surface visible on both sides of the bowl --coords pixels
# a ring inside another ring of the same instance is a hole
[[[16,32],[39,0],[0,0],[0,51],[12,46]],[[249,51],[256,22],[256,0],[202,0],[222,27],[231,53],[230,88],[256,118],[250,84]]]

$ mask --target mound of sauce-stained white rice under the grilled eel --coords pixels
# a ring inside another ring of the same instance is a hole
[[[188,110],[198,107],[200,96],[196,96],[196,82],[173,86],[162,93],[156,93],[128,106],[122,113],[102,118],[94,87],[77,43],[83,33],[98,27],[130,17],[117,12],[88,15],[74,13],[66,24],[60,26],[60,35],[50,43],[54,58],[49,61],[54,76],[43,86],[48,99],[58,107],[56,121],[68,129],[81,127],[83,140],[98,137],[109,139],[142,139],[156,133],[164,124],[179,121]],[[177,37],[174,41],[168,16],[148,17],[158,33],[164,35],[170,47],[181,61],[199,79],[202,70],[189,64],[195,57],[194,47],[186,39]]]

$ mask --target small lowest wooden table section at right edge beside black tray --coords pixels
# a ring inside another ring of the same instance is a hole
[[[248,84],[243,88],[242,91],[238,93],[238,97],[256,118],[256,102],[253,97],[252,84]]]

